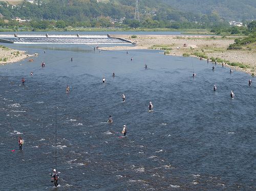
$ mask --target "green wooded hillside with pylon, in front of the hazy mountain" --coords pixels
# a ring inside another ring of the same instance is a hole
[[[140,22],[134,20],[134,0],[112,0],[108,3],[96,0],[36,0],[33,4],[23,2],[12,7],[0,2],[0,13],[4,19],[0,26],[6,28],[28,28],[45,30],[71,27],[118,27],[118,28],[170,28],[170,29],[206,29],[220,34],[228,27],[227,21],[215,11],[209,14],[181,12],[163,4],[164,0],[140,0]],[[15,17],[31,19],[30,22],[18,23]],[[125,17],[123,23],[114,19]],[[237,34],[236,28],[230,33]],[[229,32],[229,31],[227,31]]]

